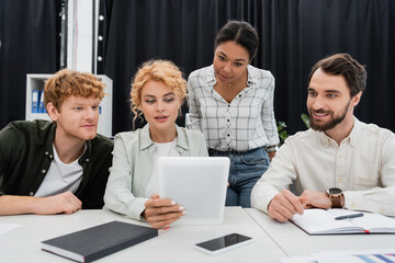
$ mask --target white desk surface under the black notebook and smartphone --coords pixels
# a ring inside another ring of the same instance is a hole
[[[120,220],[137,222],[109,210],[80,210],[71,215],[1,216],[0,224],[21,224],[20,228],[0,236],[1,262],[71,262],[42,251],[41,241],[69,232]],[[255,239],[255,243],[219,255],[206,255],[193,248],[194,243],[230,232]],[[219,226],[180,226],[160,230],[159,237],[122,250],[95,262],[278,262],[285,253],[241,207],[227,207]]]

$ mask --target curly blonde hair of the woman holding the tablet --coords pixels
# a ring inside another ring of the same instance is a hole
[[[143,112],[140,107],[142,91],[144,84],[149,80],[165,82],[165,84],[177,94],[180,100],[180,104],[182,104],[187,96],[187,81],[183,79],[182,71],[179,67],[169,60],[151,59],[145,61],[139,67],[132,82],[131,108],[134,113],[133,123],[136,121],[137,116],[143,119]]]

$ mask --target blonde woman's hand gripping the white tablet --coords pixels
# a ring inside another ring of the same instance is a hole
[[[160,198],[157,194],[153,194],[145,207],[142,216],[153,228],[162,228],[187,214],[183,206],[177,205],[174,201]]]

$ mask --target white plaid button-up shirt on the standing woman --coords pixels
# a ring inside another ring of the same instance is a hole
[[[246,151],[279,144],[273,112],[274,77],[247,67],[247,87],[228,103],[214,90],[213,65],[188,79],[191,128],[204,134],[207,147]]]

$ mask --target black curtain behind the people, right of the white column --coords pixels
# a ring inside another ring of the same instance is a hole
[[[100,13],[103,60],[98,68],[114,81],[114,133],[132,129],[129,82],[143,61],[173,60],[188,77],[212,64],[215,34],[229,19],[257,28],[261,46],[252,65],[274,75],[275,116],[290,134],[305,129],[300,115],[307,112],[312,66],[335,53],[349,53],[366,66],[368,88],[357,117],[395,130],[390,82],[395,76],[395,1],[101,0]]]

